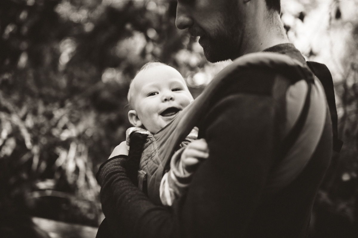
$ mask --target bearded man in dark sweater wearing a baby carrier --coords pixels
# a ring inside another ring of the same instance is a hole
[[[131,183],[125,157],[102,165],[112,236],[306,237],[332,127],[323,87],[289,44],[279,14],[279,0],[178,0],[176,26],[200,36],[209,61],[239,58],[167,127],[175,134],[198,126],[209,146],[173,209],[155,206]],[[249,54],[260,51],[279,54]],[[171,155],[169,142],[158,145]]]

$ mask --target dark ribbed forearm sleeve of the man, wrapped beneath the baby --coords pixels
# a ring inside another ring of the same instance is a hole
[[[126,156],[112,157],[97,173],[102,210],[111,233],[116,237],[173,237],[171,212],[151,203],[131,182],[127,160]]]

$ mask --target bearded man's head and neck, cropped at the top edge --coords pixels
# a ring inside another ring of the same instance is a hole
[[[200,36],[210,62],[236,59],[289,43],[280,19],[279,0],[178,1],[176,26]]]

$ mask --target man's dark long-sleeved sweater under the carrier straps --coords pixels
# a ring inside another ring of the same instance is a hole
[[[304,63],[290,44],[266,51],[287,54]],[[252,82],[263,77],[272,82],[266,85],[272,91],[287,81],[284,75],[261,68],[242,72],[240,77],[252,77]],[[273,94],[260,90],[242,93],[245,85],[240,80],[229,82],[212,99],[210,110],[198,125],[199,137],[208,142],[209,158],[194,174],[187,196],[172,210],[155,206],[132,184],[126,176],[126,158],[103,165],[98,172],[101,203],[113,236],[306,236],[314,197],[332,153],[329,111],[303,171],[283,189],[266,193],[284,137],[285,107],[278,105],[280,101]]]

